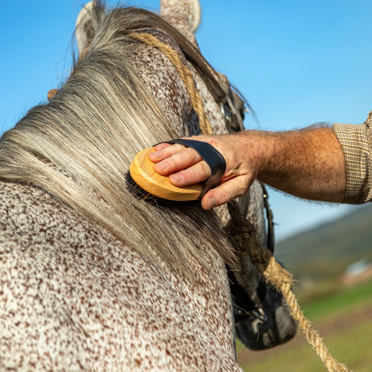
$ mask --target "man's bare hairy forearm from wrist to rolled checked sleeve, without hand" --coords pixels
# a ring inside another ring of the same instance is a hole
[[[257,178],[300,198],[342,202],[346,193],[344,154],[330,128],[288,132],[247,131],[256,138]]]

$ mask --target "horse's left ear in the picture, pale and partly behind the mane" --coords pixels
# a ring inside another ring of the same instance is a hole
[[[95,30],[93,27],[92,16],[96,1],[92,0],[87,3],[83,9],[80,10],[76,20],[76,41],[81,55],[86,48],[89,47],[90,42],[94,38]]]

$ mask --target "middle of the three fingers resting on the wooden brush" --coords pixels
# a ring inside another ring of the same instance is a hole
[[[163,151],[166,151],[167,149],[168,147]],[[160,163],[154,164],[154,171],[165,176],[191,167],[194,164],[199,163],[201,160],[203,159],[193,148],[186,147],[179,153],[171,155]]]

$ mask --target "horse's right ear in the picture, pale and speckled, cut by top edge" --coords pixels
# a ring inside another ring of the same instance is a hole
[[[175,19],[183,18],[189,23],[191,30],[195,32],[201,16],[199,0],[160,0],[160,15],[161,17],[165,16],[167,20],[172,16]]]

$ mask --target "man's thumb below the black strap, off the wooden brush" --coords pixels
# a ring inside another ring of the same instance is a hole
[[[232,199],[244,195],[248,191],[249,185],[247,177],[234,177],[209,190],[202,198],[202,207],[208,210],[226,204]]]

